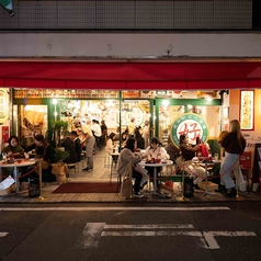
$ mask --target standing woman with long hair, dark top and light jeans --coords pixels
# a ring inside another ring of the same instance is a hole
[[[242,136],[238,120],[232,120],[229,123],[229,134],[223,139],[220,145],[225,149],[225,160],[220,168],[220,190],[224,190],[224,192],[228,190],[226,196],[235,197],[237,190],[230,172],[238,161],[239,155],[246,148],[246,139]]]

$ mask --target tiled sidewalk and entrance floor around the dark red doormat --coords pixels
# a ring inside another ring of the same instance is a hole
[[[104,158],[105,152],[100,151],[94,158],[94,168],[93,171],[81,171],[86,167],[86,160],[80,162],[80,171],[76,177],[71,175],[68,178],[67,182],[107,182],[110,185],[110,175],[111,168],[105,164]],[[116,182],[117,173],[115,168],[112,169],[112,181]],[[71,171],[73,174],[73,170]],[[43,184],[44,185],[44,184]],[[226,197],[223,193],[215,193],[217,185],[215,183],[208,182],[207,191],[213,192],[213,194],[204,194],[205,185],[202,183],[202,190],[194,191],[192,197],[183,197],[181,184],[174,182],[174,192],[172,197],[161,197],[158,195],[152,195],[148,190],[144,190],[145,196],[141,198],[123,198],[120,193],[52,193],[58,188],[57,182],[47,183],[42,188],[42,195],[38,197],[27,197],[22,196],[21,194],[11,193],[8,195],[0,196],[1,203],[214,203],[214,202],[251,202],[251,201],[261,201],[261,191],[260,189],[257,192],[239,192],[238,197],[230,198]],[[147,188],[148,189],[148,188]]]

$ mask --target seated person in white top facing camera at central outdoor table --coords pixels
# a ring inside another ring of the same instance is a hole
[[[166,149],[162,147],[161,143],[157,137],[151,138],[150,146],[145,150],[144,158],[148,160],[156,160],[156,159],[169,159],[170,156],[166,151]],[[148,171],[148,174],[150,178],[154,178],[154,167],[145,167],[145,169]],[[162,170],[162,167],[157,167],[157,179],[158,173]]]

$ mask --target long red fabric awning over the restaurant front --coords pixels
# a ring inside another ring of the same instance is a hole
[[[0,61],[0,87],[227,90],[261,87],[261,61]]]

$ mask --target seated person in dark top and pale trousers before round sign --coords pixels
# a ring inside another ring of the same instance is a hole
[[[180,151],[182,160],[184,160],[184,170],[194,179],[194,189],[201,190],[200,184],[205,178],[205,169],[201,166],[192,164],[192,159],[197,151],[197,145],[190,144],[186,134],[180,135]]]

